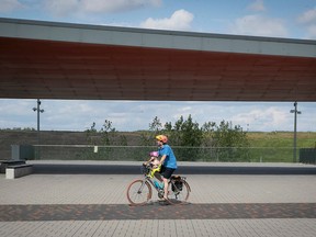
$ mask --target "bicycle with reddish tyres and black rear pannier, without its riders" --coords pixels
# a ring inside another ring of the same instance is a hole
[[[163,199],[163,189],[159,189],[153,182],[151,166],[143,165],[140,170],[144,178],[132,181],[127,187],[128,202],[132,205],[145,205],[153,198],[153,188],[157,191],[158,198]],[[169,204],[183,204],[188,201],[190,192],[191,188],[185,177],[172,176],[168,182],[168,199],[166,201]]]

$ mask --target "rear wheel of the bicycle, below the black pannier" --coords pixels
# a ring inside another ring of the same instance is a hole
[[[171,204],[187,203],[191,188],[185,180],[180,181],[182,183],[181,189],[174,185],[174,182],[169,181],[168,185],[168,202]]]

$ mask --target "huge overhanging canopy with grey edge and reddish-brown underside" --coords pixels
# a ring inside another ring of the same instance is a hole
[[[0,19],[0,98],[316,101],[316,42]]]

